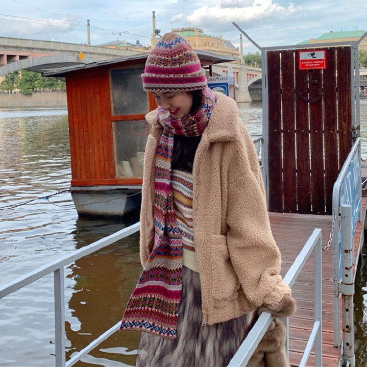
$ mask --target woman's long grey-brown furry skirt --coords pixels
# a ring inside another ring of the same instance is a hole
[[[184,266],[182,287],[177,337],[172,340],[143,332],[137,367],[225,367],[247,336],[251,314],[203,325],[199,273]]]

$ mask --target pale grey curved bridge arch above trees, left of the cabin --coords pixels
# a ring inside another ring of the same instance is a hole
[[[14,61],[10,64],[0,67],[0,77],[9,74],[10,72],[27,69],[37,72],[42,72],[46,69],[71,66],[76,64],[86,64],[93,61],[100,61],[100,58],[85,57],[83,60],[76,55],[55,55],[30,57],[19,61]]]

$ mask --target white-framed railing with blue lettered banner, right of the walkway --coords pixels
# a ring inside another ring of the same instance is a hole
[[[340,348],[340,292],[341,292],[341,234],[339,225],[340,206],[347,204],[352,208],[353,236],[358,222],[362,221],[360,138],[357,138],[344,162],[333,188],[332,201],[332,244],[333,244],[333,322],[334,347]],[[354,261],[354,248],[353,248]]]

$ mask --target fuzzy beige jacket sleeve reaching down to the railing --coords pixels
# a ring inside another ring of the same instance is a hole
[[[256,308],[278,304],[290,289],[279,275],[281,256],[270,227],[254,144],[246,127],[240,129],[228,160],[227,246],[244,294]]]

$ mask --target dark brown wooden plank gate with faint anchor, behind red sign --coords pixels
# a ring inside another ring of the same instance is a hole
[[[333,185],[352,146],[351,47],[322,50],[326,68],[308,70],[300,70],[300,50],[266,51],[273,212],[332,213]]]

